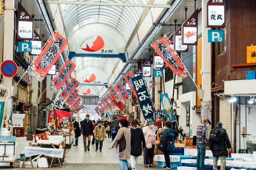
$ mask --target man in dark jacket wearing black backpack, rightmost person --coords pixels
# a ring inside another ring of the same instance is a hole
[[[223,128],[223,123],[218,122],[216,127],[211,130],[209,136],[209,147],[210,150],[212,150],[212,154],[214,156],[213,170],[217,170],[219,157],[221,157],[220,170],[225,170],[226,156],[228,156],[228,152],[231,152],[231,144],[227,135],[227,131]]]

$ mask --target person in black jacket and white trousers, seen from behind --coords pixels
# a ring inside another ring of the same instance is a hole
[[[142,153],[142,148],[145,150],[146,142],[140,123],[137,119],[131,121],[131,167],[137,169],[138,157]],[[142,145],[142,146],[141,146]]]

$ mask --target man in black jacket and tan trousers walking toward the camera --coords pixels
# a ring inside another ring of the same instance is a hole
[[[85,120],[81,122],[81,135],[84,139],[84,152],[90,151],[90,138],[93,136],[93,122],[89,119],[90,115],[86,114]],[[88,145],[86,144],[86,138],[88,138]]]

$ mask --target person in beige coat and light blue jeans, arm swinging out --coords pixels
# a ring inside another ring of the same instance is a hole
[[[119,124],[120,129],[111,143],[109,149],[116,145],[116,159],[120,161],[120,170],[131,170],[127,159],[130,159],[131,154],[131,131],[128,129],[128,122],[126,119],[121,119]]]

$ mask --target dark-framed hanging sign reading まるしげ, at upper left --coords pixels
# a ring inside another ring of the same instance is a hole
[[[17,40],[33,40],[34,19],[18,2]]]

